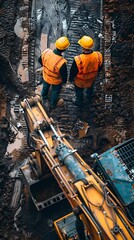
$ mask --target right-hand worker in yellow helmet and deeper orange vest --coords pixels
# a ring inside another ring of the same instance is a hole
[[[94,82],[98,72],[102,68],[102,54],[93,51],[94,41],[89,36],[83,36],[78,44],[82,47],[82,53],[74,57],[70,69],[69,81],[74,83],[76,93],[76,105],[83,106],[83,92],[86,89],[87,98],[90,101],[93,95]]]

